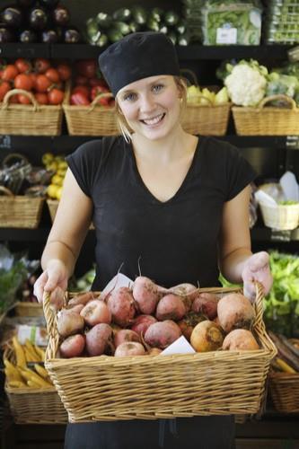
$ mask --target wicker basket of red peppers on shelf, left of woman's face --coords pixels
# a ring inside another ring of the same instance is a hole
[[[114,107],[98,104],[100,97],[111,96],[111,93],[101,93],[89,106],[79,106],[69,104],[70,92],[71,85],[68,84],[63,109],[68,133],[71,136],[117,136],[120,134]]]

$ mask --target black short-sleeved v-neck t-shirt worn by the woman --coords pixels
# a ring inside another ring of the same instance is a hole
[[[87,142],[66,159],[93,202],[93,290],[106,286],[120,267],[133,280],[141,272],[162,286],[219,285],[217,242],[224,202],[255,177],[237,148],[200,136],[180,189],[165,202],[146,188],[132,146],[122,136]]]

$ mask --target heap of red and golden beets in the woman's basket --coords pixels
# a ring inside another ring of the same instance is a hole
[[[240,293],[201,293],[190,284],[166,289],[139,276],[132,288],[115,288],[104,299],[75,295],[57,313],[59,355],[158,355],[182,335],[197,352],[256,350],[254,319]]]

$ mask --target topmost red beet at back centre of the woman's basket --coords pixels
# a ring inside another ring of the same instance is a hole
[[[138,276],[133,284],[133,297],[140,313],[150,315],[154,313],[161,295],[158,292],[158,286],[149,277]]]

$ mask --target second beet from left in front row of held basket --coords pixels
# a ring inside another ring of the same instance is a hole
[[[109,324],[101,322],[86,333],[86,349],[90,356],[101,356],[112,349],[112,329]]]

